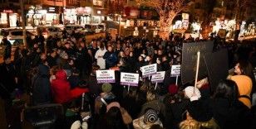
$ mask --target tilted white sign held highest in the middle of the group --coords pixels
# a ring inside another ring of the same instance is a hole
[[[157,72],[157,65],[146,65],[141,67],[142,77],[150,77],[151,75],[155,74]]]

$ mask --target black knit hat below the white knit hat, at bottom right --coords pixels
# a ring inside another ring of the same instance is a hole
[[[209,106],[202,103],[200,100],[190,102],[187,110],[190,113],[190,117],[198,122],[208,122],[213,117]]]

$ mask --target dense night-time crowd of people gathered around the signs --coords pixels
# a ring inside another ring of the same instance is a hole
[[[170,76],[171,66],[182,63],[182,43],[198,39],[124,36],[114,41],[106,35],[89,42],[76,34],[46,40],[41,35],[27,48],[17,48],[13,61],[11,55],[4,56],[1,98],[6,100],[6,110],[12,106],[10,100],[20,97],[19,91],[30,96],[30,106],[60,103],[65,112],[76,112],[72,117],[65,113],[55,128],[256,128],[256,45],[210,40],[214,49],[229,50],[229,68],[234,68],[214,86],[215,91],[210,90],[207,77],[194,87],[193,83],[181,84],[180,77],[175,84],[175,77]],[[156,89],[147,78],[140,78],[139,86],[129,91],[120,84],[121,72],[141,77],[140,68],[152,64],[166,71]],[[116,83],[97,84],[96,70],[101,69],[115,70]]]

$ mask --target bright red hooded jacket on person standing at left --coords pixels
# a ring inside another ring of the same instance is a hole
[[[66,79],[66,72],[61,69],[52,80],[52,93],[56,103],[66,103],[71,100],[71,86]]]

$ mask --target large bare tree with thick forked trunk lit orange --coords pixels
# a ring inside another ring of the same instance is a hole
[[[188,7],[192,0],[135,0],[139,5],[154,7],[160,15],[160,37],[168,38],[175,16]]]

